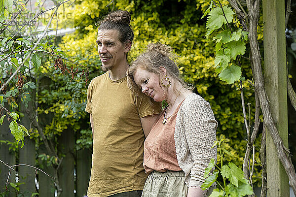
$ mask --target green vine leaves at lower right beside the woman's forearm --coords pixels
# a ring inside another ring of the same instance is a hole
[[[235,164],[229,162],[228,164],[223,164],[223,155],[230,154],[226,151],[224,139],[218,140],[215,144],[218,145],[218,157],[221,159],[220,167],[218,165],[216,171],[213,175],[209,176],[210,170],[205,170],[204,177],[207,177],[205,182],[202,184],[201,188],[203,190],[208,189],[214,182],[217,181],[219,173],[222,175],[223,183],[218,183],[221,189],[215,189],[210,197],[244,197],[246,195],[252,195],[253,190],[248,180],[244,177],[244,172],[241,168],[237,167]],[[215,166],[215,160],[212,159],[208,168]]]

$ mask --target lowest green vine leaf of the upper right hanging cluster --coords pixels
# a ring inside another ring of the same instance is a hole
[[[241,77],[241,68],[239,66],[232,65],[225,68],[220,74],[219,78],[222,81],[226,81],[227,84],[233,84],[234,81],[237,81]]]

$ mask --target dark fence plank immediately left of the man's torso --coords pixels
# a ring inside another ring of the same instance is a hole
[[[76,184],[77,184],[77,197],[86,195],[90,170],[91,170],[91,151],[88,149],[77,151],[76,163]]]

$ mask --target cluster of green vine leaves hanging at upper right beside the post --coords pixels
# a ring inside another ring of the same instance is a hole
[[[205,12],[206,14],[211,9],[206,23],[206,36],[209,37],[215,30],[222,30],[217,36],[213,37],[213,40],[216,40],[216,72],[220,73],[218,76],[222,81],[233,84],[235,81],[240,80],[242,76],[241,63],[235,61],[237,56],[245,54],[246,43],[244,41],[247,40],[247,33],[239,28],[236,32],[232,32],[233,28],[230,25],[233,21],[234,12],[227,5],[213,8],[212,1]]]

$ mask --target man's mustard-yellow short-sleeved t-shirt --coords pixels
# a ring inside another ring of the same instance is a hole
[[[88,197],[143,190],[147,175],[140,118],[161,109],[148,99],[134,96],[126,77],[112,81],[109,71],[90,82],[85,111],[92,114],[94,134]]]

